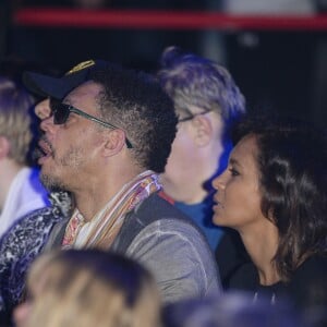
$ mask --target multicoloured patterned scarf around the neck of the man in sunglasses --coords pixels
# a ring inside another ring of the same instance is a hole
[[[85,220],[78,209],[70,219],[62,249],[100,247],[108,250],[124,221],[125,215],[138,203],[161,189],[158,175],[147,170],[126,183],[120,192],[92,219]]]

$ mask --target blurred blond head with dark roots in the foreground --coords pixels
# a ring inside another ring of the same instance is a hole
[[[17,327],[156,327],[160,298],[138,263],[100,250],[41,255],[27,277],[27,301],[16,307]]]

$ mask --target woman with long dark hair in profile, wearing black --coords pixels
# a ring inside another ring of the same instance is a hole
[[[327,141],[296,121],[242,122],[213,184],[214,222],[235,229],[253,264],[230,288],[302,307],[327,303]]]

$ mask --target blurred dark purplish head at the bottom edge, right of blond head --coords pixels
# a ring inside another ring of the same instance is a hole
[[[270,305],[253,302],[246,292],[226,292],[218,298],[189,299],[164,307],[165,327],[308,327],[288,301]],[[313,326],[311,326],[313,327]]]

